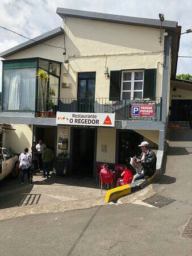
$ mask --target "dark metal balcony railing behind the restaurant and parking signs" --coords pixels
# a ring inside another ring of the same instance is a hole
[[[56,112],[115,113],[115,120],[161,121],[161,98],[110,100],[109,98],[53,98],[51,106],[36,99],[36,117],[56,117]],[[152,115],[133,115],[132,106],[151,106]],[[49,111],[48,111],[49,110]]]

